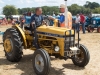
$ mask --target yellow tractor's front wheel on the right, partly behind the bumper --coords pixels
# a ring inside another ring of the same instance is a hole
[[[90,54],[88,49],[82,44],[80,44],[79,49],[80,54],[75,55],[72,61],[76,66],[85,67],[89,63]]]

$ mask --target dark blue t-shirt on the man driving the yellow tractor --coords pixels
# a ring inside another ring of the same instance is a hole
[[[36,15],[34,14],[32,17],[31,17],[31,23],[32,22],[35,22],[35,24],[37,26],[40,26],[43,22],[43,16],[42,15]]]

